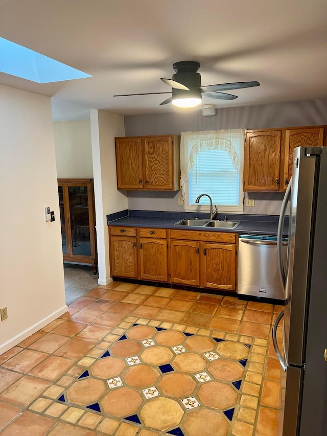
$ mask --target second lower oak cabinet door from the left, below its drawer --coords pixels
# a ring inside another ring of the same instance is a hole
[[[140,279],[168,281],[167,240],[139,239]]]

